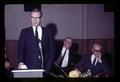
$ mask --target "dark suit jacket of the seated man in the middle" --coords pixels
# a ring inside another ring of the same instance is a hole
[[[56,42],[56,47],[55,47],[55,60],[54,62],[59,58],[59,56],[61,55],[61,51],[62,51],[62,48],[63,48],[63,42],[62,41],[57,41]],[[72,50],[72,48],[70,48],[69,50],[69,59],[68,59],[68,66],[67,67],[64,67],[61,68],[67,73],[69,74],[69,72],[71,70],[74,69],[74,66],[79,62],[80,60],[80,55],[77,54],[77,52],[74,52]],[[58,74],[58,71],[59,69],[57,69],[56,67],[54,68],[54,71],[57,71],[57,74]],[[62,73],[61,73],[62,74]]]

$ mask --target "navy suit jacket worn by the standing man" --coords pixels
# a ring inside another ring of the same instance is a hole
[[[44,69],[50,70],[54,59],[54,44],[46,28],[42,28],[42,51]],[[18,44],[18,62],[24,62],[28,69],[40,69],[41,61],[38,56],[39,51],[32,26],[22,29]]]

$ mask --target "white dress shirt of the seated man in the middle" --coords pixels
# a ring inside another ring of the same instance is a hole
[[[63,56],[65,50],[66,50],[66,48],[63,47],[63,48],[62,48],[62,52],[61,52],[61,53],[62,53],[62,56]],[[67,49],[67,51],[66,51],[66,53],[65,53],[65,56],[64,56],[64,58],[63,58],[61,67],[67,67],[67,66],[68,66],[68,59],[69,59],[69,50]]]

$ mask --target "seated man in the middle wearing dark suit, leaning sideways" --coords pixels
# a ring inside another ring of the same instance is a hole
[[[80,55],[72,50],[72,38],[66,37],[64,42],[56,44],[56,54],[53,72],[56,75],[67,76],[75,64],[80,60]],[[63,71],[62,71],[63,70]]]

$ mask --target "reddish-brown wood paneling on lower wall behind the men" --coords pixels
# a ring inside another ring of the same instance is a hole
[[[78,44],[79,54],[90,53],[92,45],[95,42],[100,43],[103,46],[103,50],[112,54],[114,59],[114,39],[74,39],[73,42]],[[6,40],[6,55],[15,68],[17,68],[18,62],[17,44],[18,40]]]

